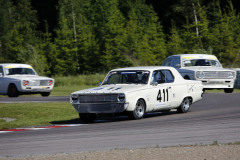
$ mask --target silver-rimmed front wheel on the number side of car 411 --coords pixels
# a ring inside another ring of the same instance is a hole
[[[130,119],[141,119],[143,118],[146,110],[146,104],[143,99],[139,99],[136,106],[132,112],[128,112]]]

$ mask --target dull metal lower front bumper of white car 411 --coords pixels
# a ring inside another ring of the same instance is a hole
[[[128,103],[80,103],[72,104],[79,113],[121,113],[124,112]]]

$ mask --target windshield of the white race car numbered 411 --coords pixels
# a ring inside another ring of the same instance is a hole
[[[102,85],[107,84],[147,84],[149,71],[113,71],[110,72]]]

